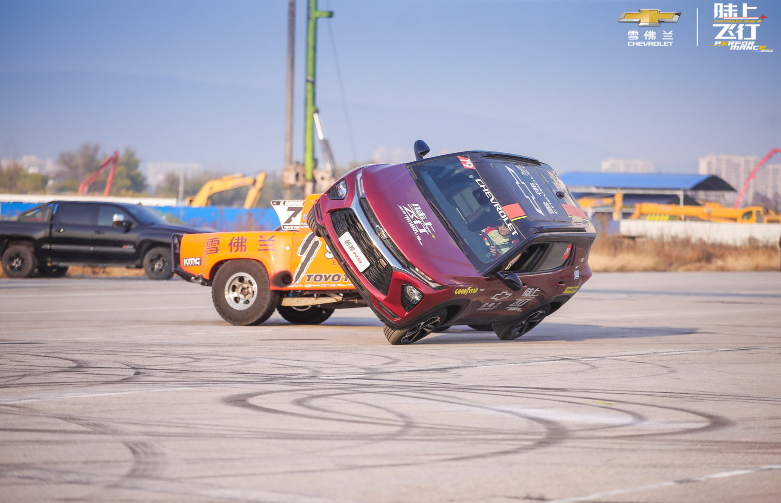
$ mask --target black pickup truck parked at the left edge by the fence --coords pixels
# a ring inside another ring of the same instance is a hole
[[[173,275],[171,236],[206,232],[174,225],[141,205],[53,201],[0,222],[0,256],[9,278],[64,276],[70,265],[144,268]]]

